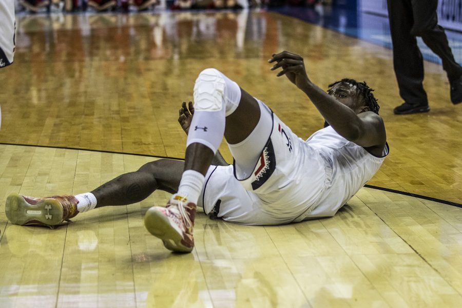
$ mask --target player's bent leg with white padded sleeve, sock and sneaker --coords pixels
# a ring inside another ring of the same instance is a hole
[[[192,230],[197,201],[223,136],[228,143],[242,142],[260,119],[258,102],[216,69],[199,74],[194,101],[184,172],[178,192],[167,203],[170,213],[155,206],[145,216],[149,232],[161,238],[166,248],[177,252],[190,252],[194,247]]]

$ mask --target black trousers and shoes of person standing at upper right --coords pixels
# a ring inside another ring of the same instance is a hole
[[[393,65],[399,94],[405,101],[394,109],[395,114],[428,112],[424,90],[424,61],[416,36],[442,60],[448,74],[453,104],[462,102],[462,67],[454,60],[444,28],[438,25],[438,0],[387,0],[393,42]]]

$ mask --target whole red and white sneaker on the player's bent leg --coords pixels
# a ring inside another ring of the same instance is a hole
[[[173,252],[189,253],[194,248],[194,219],[196,204],[174,200],[166,207],[152,206],[144,216],[144,225],[150,234],[162,240]]]

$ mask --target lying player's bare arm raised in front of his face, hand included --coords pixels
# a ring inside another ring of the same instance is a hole
[[[356,114],[350,107],[316,86],[308,78],[303,57],[288,51],[273,54],[268,60],[276,64],[271,70],[282,68],[277,76],[285,75],[288,80],[302,90],[313,102],[324,119],[340,136],[362,147],[382,147],[386,142],[385,127],[380,116],[372,111]]]

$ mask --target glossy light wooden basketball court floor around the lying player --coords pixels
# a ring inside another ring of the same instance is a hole
[[[276,12],[18,16],[16,38],[15,63],[0,70],[0,306],[462,302],[462,106],[450,103],[440,65],[425,63],[431,111],[396,116],[390,49]],[[306,139],[323,121],[269,70],[266,60],[284,49],[305,57],[321,87],[349,76],[375,88],[391,151],[369,184],[429,198],[362,188],[333,218],[283,226],[199,214],[186,255],[171,254],[143,226],[145,211],[169,197],[162,191],[54,230],[6,219],[11,192],[78,194],[156,157],[183,158],[179,104],[206,67]]]

